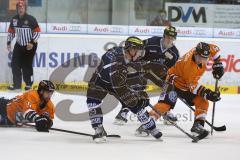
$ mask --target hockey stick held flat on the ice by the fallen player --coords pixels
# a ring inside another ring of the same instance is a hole
[[[23,125],[29,126],[29,127],[35,127],[35,125],[29,124],[29,123],[24,123]],[[77,134],[77,135],[82,135],[82,136],[93,137],[92,134],[82,133],[82,132],[76,132],[76,131],[70,131],[70,130],[59,129],[59,128],[49,128],[49,130],[59,131],[59,132],[65,132],[65,133],[71,133],[71,134]],[[116,135],[116,134],[109,134],[109,135],[107,135],[107,137],[121,138],[121,136]]]

